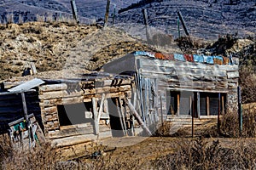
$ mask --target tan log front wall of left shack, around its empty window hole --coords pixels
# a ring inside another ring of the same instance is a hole
[[[102,124],[101,120],[98,121],[101,118],[97,119],[97,116],[94,116],[96,118],[94,123],[61,127],[57,106],[91,102],[95,104],[91,108],[91,114],[87,111],[87,116],[98,114],[100,111],[101,117],[106,118],[108,99],[125,98],[125,96],[131,98],[131,83],[131,78],[102,78],[94,81],[63,81],[57,84],[53,81],[50,84],[40,86],[40,108],[46,137],[48,139],[61,139],[84,134],[101,136],[101,133],[110,131],[110,128]],[[101,101],[102,99],[104,101]]]

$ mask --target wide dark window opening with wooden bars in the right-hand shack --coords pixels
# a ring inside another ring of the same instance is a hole
[[[166,91],[166,110],[168,115],[191,116],[194,108],[195,117],[217,116],[218,102],[220,102],[220,111],[224,112],[226,94],[218,93],[197,93],[189,91]],[[195,101],[194,106],[193,99]]]

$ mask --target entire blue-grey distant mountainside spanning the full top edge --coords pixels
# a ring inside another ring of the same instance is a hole
[[[91,24],[104,19],[107,1],[76,0],[79,20]],[[131,35],[145,39],[145,26],[142,9],[148,10],[148,22],[152,36],[165,32],[177,37],[177,11],[181,11],[193,37],[216,40],[219,35],[237,32],[240,37],[254,37],[256,27],[256,6],[254,1],[239,0],[111,0],[110,20],[113,7],[116,5],[115,25]],[[14,14],[15,21],[19,16],[26,20],[44,20],[44,18],[72,18],[70,0],[3,0],[0,2],[2,22],[6,16]],[[38,19],[38,15],[41,18]],[[182,26],[181,26],[182,27]],[[184,35],[183,28],[182,34]]]

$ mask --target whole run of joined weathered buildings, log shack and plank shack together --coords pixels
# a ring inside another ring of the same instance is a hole
[[[45,139],[61,147],[135,135],[138,125],[153,132],[168,117],[236,111],[238,77],[238,59],[135,52],[79,78],[45,79],[26,90],[24,82],[3,82],[0,129],[26,112],[36,117]]]

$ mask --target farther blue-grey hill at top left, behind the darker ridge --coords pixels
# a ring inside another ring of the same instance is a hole
[[[112,0],[110,5],[110,14],[113,13],[113,5],[116,10],[125,8],[136,0]],[[103,18],[106,11],[107,1],[99,0],[76,0],[79,20],[82,23],[91,23],[99,18]],[[13,13],[18,22],[19,15],[26,21],[38,20],[38,15],[54,15],[54,17],[72,18],[72,9],[70,0],[3,0],[0,2],[0,14],[2,22],[6,14]]]

